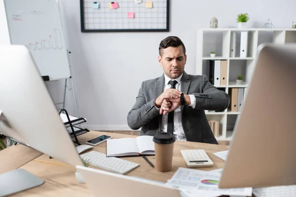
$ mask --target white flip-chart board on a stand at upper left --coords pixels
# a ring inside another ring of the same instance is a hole
[[[10,43],[29,49],[41,76],[70,78],[58,0],[4,0],[4,4]]]

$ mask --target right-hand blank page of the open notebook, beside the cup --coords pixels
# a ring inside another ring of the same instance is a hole
[[[155,154],[153,136],[142,135],[142,136],[136,137],[136,140],[137,140],[140,153],[142,153],[143,155]]]

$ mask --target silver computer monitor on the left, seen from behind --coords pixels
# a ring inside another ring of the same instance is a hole
[[[83,165],[25,46],[0,46],[0,131],[62,162]],[[29,176],[25,183],[37,178]],[[23,188],[22,183],[13,186],[4,194]]]

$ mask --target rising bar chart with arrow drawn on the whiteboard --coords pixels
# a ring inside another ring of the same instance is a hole
[[[31,50],[63,49],[61,31],[59,29],[54,29],[53,32],[47,38],[35,43],[25,44],[25,46]]]

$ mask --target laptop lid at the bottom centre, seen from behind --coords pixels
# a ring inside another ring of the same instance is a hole
[[[162,183],[84,166],[76,166],[96,197],[183,197]]]

